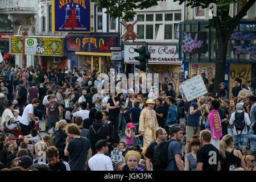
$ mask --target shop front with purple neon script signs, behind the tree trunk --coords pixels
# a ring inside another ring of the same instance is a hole
[[[180,23],[179,57],[184,62],[184,78],[201,75],[203,72],[209,81],[215,76],[217,42],[214,29],[207,28],[208,24],[209,22]],[[241,21],[229,38],[226,55],[224,74],[229,98],[236,78],[241,79],[242,84],[251,80],[253,88],[256,87],[253,76],[256,68],[255,50],[256,22]]]

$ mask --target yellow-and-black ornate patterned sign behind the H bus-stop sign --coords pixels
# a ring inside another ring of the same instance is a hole
[[[63,56],[63,39],[57,37],[39,37],[39,36],[28,36],[26,37],[26,47],[36,45],[36,48],[27,49],[25,47],[25,54],[30,55],[42,55],[42,56]],[[32,40],[34,43],[32,45]],[[35,42],[36,41],[36,42]],[[10,39],[10,50],[11,54],[22,54],[23,53],[23,36],[11,36]],[[28,52],[29,51],[29,52]]]

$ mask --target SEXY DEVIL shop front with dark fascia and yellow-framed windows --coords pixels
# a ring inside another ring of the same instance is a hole
[[[118,46],[118,34],[108,35],[68,35],[65,39],[70,68],[79,69],[81,73],[99,71],[108,74],[114,69],[110,47]]]

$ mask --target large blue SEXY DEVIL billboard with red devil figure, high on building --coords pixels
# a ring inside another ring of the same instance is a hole
[[[90,0],[52,0],[53,32],[90,32]]]

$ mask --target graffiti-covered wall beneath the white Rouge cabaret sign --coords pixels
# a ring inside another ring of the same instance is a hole
[[[174,86],[175,92],[179,93],[179,66],[161,67],[161,65],[154,65],[153,67],[149,65],[148,73],[159,73],[160,84],[162,84],[163,78],[166,77],[167,81]]]

